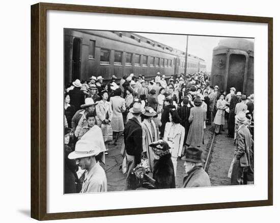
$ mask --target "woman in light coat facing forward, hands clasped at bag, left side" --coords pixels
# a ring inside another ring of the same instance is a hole
[[[101,91],[102,100],[98,102],[95,106],[96,109],[96,121],[97,125],[102,128],[103,125],[111,126],[111,121],[113,118],[113,110],[111,107],[111,103],[107,102],[108,99],[108,92],[106,90]],[[105,142],[106,151],[108,151],[108,141]],[[107,155],[107,152],[105,152]]]

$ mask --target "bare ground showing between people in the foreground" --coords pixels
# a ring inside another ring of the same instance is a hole
[[[227,129],[217,135],[213,144],[213,152],[210,157],[208,174],[212,186],[230,185],[228,170],[233,158],[234,144],[232,138],[227,138]],[[207,126],[205,130],[204,144],[201,146],[206,159],[213,137],[213,126]],[[105,172],[107,176],[108,191],[122,191],[125,185],[126,174],[122,174],[120,166],[123,158],[120,154],[123,143],[123,136],[120,137],[117,145],[110,144],[108,155],[105,157]],[[185,176],[184,161],[178,159],[176,187],[182,187]]]

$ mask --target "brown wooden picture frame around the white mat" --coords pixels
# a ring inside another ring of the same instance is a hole
[[[47,213],[47,10],[94,12],[124,15],[144,15],[221,21],[242,21],[268,24],[268,199],[261,201],[229,202],[129,208],[115,210]],[[273,205],[273,19],[270,17],[223,15],[193,12],[161,11],[99,6],[38,3],[31,6],[31,217],[38,220],[98,217],[128,214],[178,212],[222,208],[240,208]]]

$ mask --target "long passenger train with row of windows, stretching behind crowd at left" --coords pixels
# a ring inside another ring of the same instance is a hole
[[[169,77],[184,73],[185,52],[130,32],[64,30],[65,83],[112,75]],[[188,54],[187,73],[205,71],[203,59]]]

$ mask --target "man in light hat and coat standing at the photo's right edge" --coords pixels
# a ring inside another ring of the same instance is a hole
[[[235,141],[235,161],[232,168],[231,184],[253,184],[254,176],[253,163],[251,163],[251,154],[253,139],[249,129],[245,126],[247,121],[246,114],[244,112],[239,112],[236,115],[238,130],[236,132]]]

